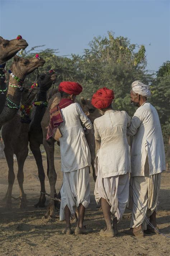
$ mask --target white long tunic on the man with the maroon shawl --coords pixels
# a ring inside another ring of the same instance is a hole
[[[90,150],[81,125],[82,123],[87,129],[92,129],[91,121],[78,103],[61,109],[61,113],[64,120],[59,126],[62,134],[61,171],[70,172],[91,166]]]

